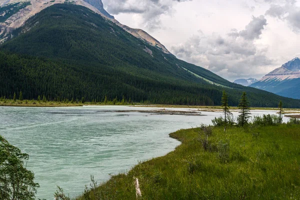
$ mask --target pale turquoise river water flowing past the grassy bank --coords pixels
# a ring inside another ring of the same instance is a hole
[[[0,107],[0,134],[29,154],[27,168],[40,184],[38,198],[52,200],[56,185],[73,197],[89,184],[90,175],[100,183],[109,179],[109,174],[126,172],[138,161],[164,155],[180,144],[168,136],[170,132],[210,124],[221,114],[202,111],[203,116],[187,116],[132,111],[153,109],[161,108]]]

